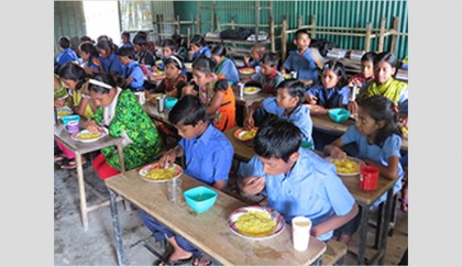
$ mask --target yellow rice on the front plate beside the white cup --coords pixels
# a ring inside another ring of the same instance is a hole
[[[250,211],[238,218],[235,227],[246,235],[263,236],[273,233],[276,222],[265,211]]]

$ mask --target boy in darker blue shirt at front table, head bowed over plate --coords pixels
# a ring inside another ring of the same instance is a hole
[[[207,108],[199,98],[183,97],[168,113],[168,121],[175,124],[178,134],[183,137],[178,145],[166,152],[160,159],[161,166],[172,166],[176,158],[185,156],[186,168],[184,173],[202,181],[217,190],[224,190],[228,175],[231,169],[233,148],[223,133],[208,123]],[[141,219],[153,232],[156,241],[165,238],[172,244],[174,251],[168,256],[168,263],[158,265],[178,265],[190,263],[194,265],[210,265],[210,259],[182,236],[174,234],[167,225],[141,211]]]

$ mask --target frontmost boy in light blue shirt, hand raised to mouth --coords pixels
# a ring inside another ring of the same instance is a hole
[[[323,242],[355,218],[358,204],[336,167],[300,148],[301,132],[294,123],[272,118],[258,129],[254,143],[256,155],[238,173],[244,194],[262,192],[266,199],[260,204],[276,210],[289,224],[294,216],[309,218],[310,234]]]

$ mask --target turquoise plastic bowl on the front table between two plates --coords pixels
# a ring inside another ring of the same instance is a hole
[[[186,190],[183,196],[185,196],[186,203],[200,213],[213,207],[218,193],[210,188],[200,186]]]

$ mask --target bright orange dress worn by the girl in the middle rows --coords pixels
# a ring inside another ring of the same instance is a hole
[[[204,88],[199,88],[199,99],[209,107],[217,91],[223,92],[224,98],[221,101],[220,108],[218,108],[216,114],[213,114],[210,119],[216,129],[224,132],[235,126],[234,92],[232,91],[228,80],[224,78],[224,75],[219,75]]]

